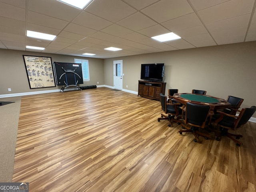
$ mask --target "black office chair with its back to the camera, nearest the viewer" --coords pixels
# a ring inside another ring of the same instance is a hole
[[[211,136],[200,132],[199,128],[205,128],[208,124],[208,115],[210,112],[210,106],[200,105],[188,102],[186,104],[186,111],[184,112],[184,123],[182,123],[182,128],[186,130],[179,130],[182,135],[183,132],[191,132],[195,139],[194,142],[198,142],[198,136],[204,136],[208,139]]]

